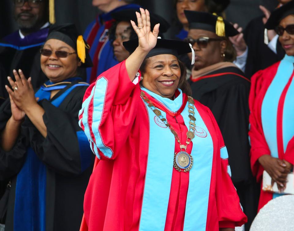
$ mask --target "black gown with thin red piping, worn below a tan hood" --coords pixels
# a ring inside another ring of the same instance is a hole
[[[214,75],[214,77],[211,77]],[[250,81],[237,67],[224,67],[190,80],[192,96],[212,111],[228,149],[232,181],[244,213],[246,230],[257,213],[258,185],[251,173],[248,140]]]

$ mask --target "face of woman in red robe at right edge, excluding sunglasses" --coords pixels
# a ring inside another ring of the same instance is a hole
[[[281,20],[280,26],[286,28],[287,25],[294,24],[294,16],[288,15]],[[294,56],[294,35],[288,34],[287,31],[284,31],[283,35],[279,36],[279,41],[284,48],[288,56]]]

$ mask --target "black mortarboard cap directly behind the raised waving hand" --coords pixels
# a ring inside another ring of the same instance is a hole
[[[136,16],[136,11],[138,9],[125,9],[125,10],[119,10],[114,13],[111,13],[111,16],[113,19],[116,21],[128,21],[130,20],[137,22],[137,16]],[[160,32],[165,33],[168,28],[170,27],[170,24],[161,16],[150,13],[150,24],[151,24],[151,30],[153,30],[154,26],[157,23],[160,23]]]

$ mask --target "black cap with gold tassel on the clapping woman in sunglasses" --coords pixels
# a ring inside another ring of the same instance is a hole
[[[81,60],[81,67],[92,67],[92,60],[89,55],[90,46],[84,40],[83,36],[77,31],[73,23],[52,25],[49,29],[48,37],[46,39],[58,39],[65,42],[77,52],[77,56]]]

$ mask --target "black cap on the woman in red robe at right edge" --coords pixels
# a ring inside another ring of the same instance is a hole
[[[289,16],[290,14],[294,14],[294,1],[288,2],[285,5],[277,8],[274,10],[269,19],[266,22],[265,28],[266,29],[275,29],[277,25],[279,25],[280,21]]]

